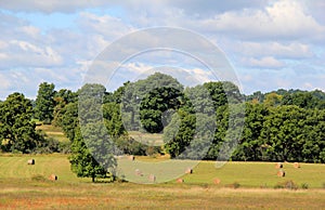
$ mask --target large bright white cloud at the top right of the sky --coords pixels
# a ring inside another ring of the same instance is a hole
[[[195,23],[196,22],[196,23]],[[259,9],[244,9],[217,14],[213,18],[193,21],[190,25],[206,32],[226,32],[244,39],[324,38],[325,28],[294,0],[276,1]]]

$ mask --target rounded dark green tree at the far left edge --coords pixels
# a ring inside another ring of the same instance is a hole
[[[0,104],[0,140],[5,152],[31,153],[43,139],[31,121],[32,106],[21,93],[10,94]]]

